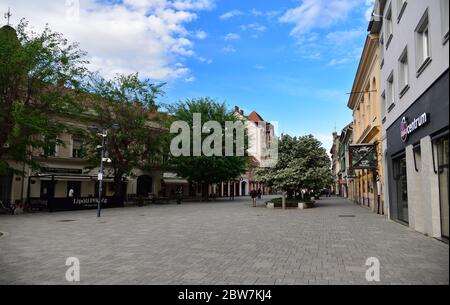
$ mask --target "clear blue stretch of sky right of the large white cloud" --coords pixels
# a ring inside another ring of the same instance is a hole
[[[211,96],[278,121],[281,132],[312,133],[329,148],[335,126],[339,130],[351,121],[346,93],[367,29],[367,6],[360,4],[345,19],[296,36],[291,35],[295,24],[280,18],[301,1],[219,2],[189,25],[207,31],[195,49],[212,63],[189,58],[195,80],[170,84],[166,100]],[[240,13],[220,18],[232,11]],[[264,16],[267,12],[270,17]],[[257,26],[249,29],[251,24]]]

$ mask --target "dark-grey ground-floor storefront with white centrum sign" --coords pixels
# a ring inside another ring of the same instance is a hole
[[[449,75],[387,129],[390,217],[436,238],[449,236]]]

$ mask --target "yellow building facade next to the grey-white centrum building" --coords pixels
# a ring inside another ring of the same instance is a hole
[[[376,169],[353,171],[353,200],[374,212],[384,214],[380,64],[379,35],[371,33],[364,45],[348,107],[353,110],[353,144],[375,145],[378,155]]]

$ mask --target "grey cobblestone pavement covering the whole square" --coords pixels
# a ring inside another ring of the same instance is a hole
[[[0,284],[65,284],[67,257],[81,284],[368,284],[369,257],[381,284],[449,283],[447,244],[338,198],[1,215],[0,231]]]

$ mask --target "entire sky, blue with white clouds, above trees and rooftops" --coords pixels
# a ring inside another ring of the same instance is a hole
[[[167,82],[161,102],[209,96],[331,146],[351,121],[347,92],[371,0],[2,0],[12,22],[46,23],[105,76]]]

